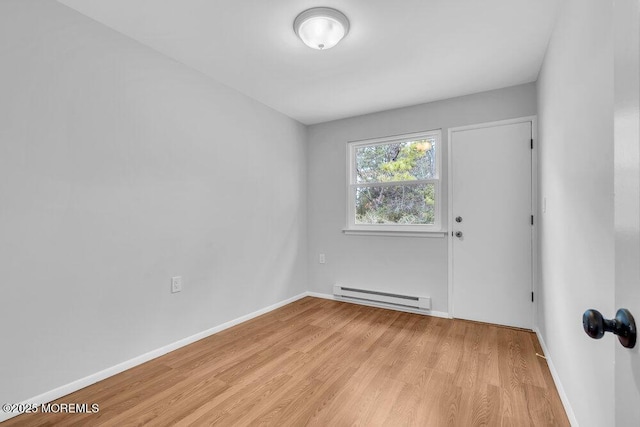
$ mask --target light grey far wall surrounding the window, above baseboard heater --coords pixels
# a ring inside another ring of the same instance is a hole
[[[344,235],[347,141],[442,128],[442,194],[447,194],[450,127],[536,114],[533,83],[309,127],[309,289],[368,286],[431,296],[447,312],[447,238]],[[447,209],[442,216],[446,227]],[[326,264],[318,254],[326,254]]]

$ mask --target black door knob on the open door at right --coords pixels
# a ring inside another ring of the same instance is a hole
[[[591,338],[600,339],[605,332],[613,332],[623,347],[636,345],[636,322],[626,308],[621,308],[613,319],[605,319],[598,310],[587,310],[582,315],[582,327]]]

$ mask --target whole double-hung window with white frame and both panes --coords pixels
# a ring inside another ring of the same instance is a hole
[[[350,142],[345,231],[440,231],[440,136]]]

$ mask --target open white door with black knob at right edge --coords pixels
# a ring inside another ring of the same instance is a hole
[[[637,0],[614,2],[615,301],[616,309],[626,308],[635,316],[636,326],[640,326],[639,13]],[[615,402],[616,426],[640,425],[640,342],[629,349],[615,340]]]

